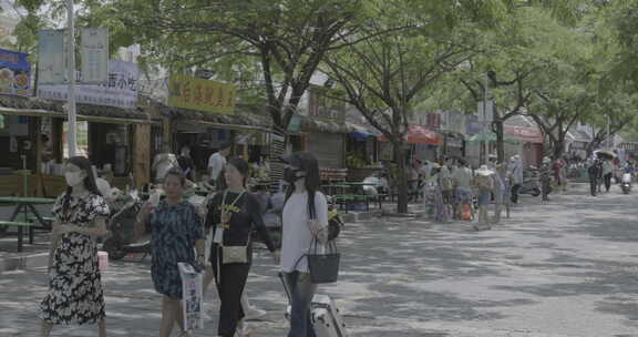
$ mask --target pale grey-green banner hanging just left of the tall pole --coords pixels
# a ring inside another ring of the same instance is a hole
[[[64,30],[47,29],[38,32],[38,84],[66,82]]]

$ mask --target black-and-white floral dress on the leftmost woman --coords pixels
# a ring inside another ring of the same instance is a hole
[[[62,224],[86,227],[96,218],[107,217],[110,211],[100,195],[78,197],[64,193],[51,213]],[[40,318],[51,324],[82,325],[105,316],[97,246],[91,236],[62,234],[49,277],[49,294],[40,304]]]

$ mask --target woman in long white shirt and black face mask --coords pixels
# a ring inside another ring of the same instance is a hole
[[[313,336],[310,303],[317,285],[310,280],[305,254],[328,239],[328,203],[318,191],[319,164],[312,154],[297,152],[282,161],[287,164],[284,180],[288,182],[281,239],[281,270],[291,295],[288,337],[309,337]]]

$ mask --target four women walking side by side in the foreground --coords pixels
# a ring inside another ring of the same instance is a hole
[[[217,183],[204,212],[184,198],[187,175],[178,167],[163,170],[163,200],[150,198],[138,214],[136,232],[151,233],[151,276],[162,296],[158,336],[184,329],[183,285],[178,263],[205,270],[215,282],[219,306],[220,337],[253,336],[244,318],[249,309],[245,287],[253,264],[254,232],[261,236],[279,265],[290,290],[289,337],[313,336],[310,302],[317,284],[310,278],[307,256],[311,245],[328,241],[328,202],[319,191],[319,164],[307,152],[282,157],[287,183],[282,207],[282,237],[279,249],[264,225],[256,194],[247,191],[249,166],[228,157],[224,149],[210,161]],[[54,325],[97,324],[106,336],[105,303],[97,264],[97,238],[107,234],[110,215],[95,184],[91,163],[72,157],[65,165],[68,191],[53,206],[55,222],[49,265],[49,293],[40,304],[41,336]],[[210,283],[210,282],[209,282]],[[204,283],[204,290],[207,284]]]

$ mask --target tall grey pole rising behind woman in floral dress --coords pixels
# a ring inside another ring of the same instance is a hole
[[[69,29],[69,98],[66,101],[69,127],[66,143],[69,144],[69,157],[78,153],[78,122],[75,118],[75,24],[73,22],[73,0],[66,1],[66,25]]]

